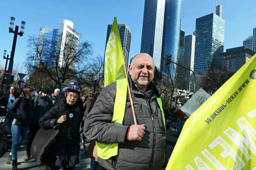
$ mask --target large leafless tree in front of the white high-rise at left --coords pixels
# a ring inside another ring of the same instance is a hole
[[[29,62],[24,63],[28,73],[43,73],[59,88],[68,79],[85,74],[89,68],[87,59],[92,54],[92,44],[88,41],[77,42],[78,38],[73,34],[59,34],[56,41],[29,36],[26,57]]]

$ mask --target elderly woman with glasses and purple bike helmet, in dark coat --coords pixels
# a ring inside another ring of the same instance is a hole
[[[79,163],[81,113],[77,99],[80,96],[79,87],[70,85],[65,92],[65,98],[48,110],[41,117],[39,125],[44,129],[52,129],[59,125],[59,133],[46,149],[43,162],[46,169],[75,169]]]

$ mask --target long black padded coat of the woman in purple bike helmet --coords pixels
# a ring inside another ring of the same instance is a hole
[[[39,125],[44,129],[52,129],[57,125],[57,120],[61,115],[67,115],[67,120],[60,126],[59,133],[53,143],[45,151],[43,162],[56,167],[71,167],[79,163],[80,151],[80,109],[77,105],[70,109],[65,99],[60,99],[59,103],[53,107],[57,108],[57,113],[53,108],[48,110],[39,121]],[[73,114],[73,117],[70,114]]]

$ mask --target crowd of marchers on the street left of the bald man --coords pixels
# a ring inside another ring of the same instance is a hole
[[[50,88],[43,87],[37,94],[33,87],[28,86],[18,93],[17,88],[12,86],[0,98],[1,116],[6,117],[4,131],[12,135],[11,152],[6,160],[6,164],[11,164],[12,169],[18,169],[17,152],[21,139],[28,134],[27,153],[23,158],[23,161],[28,161],[33,148],[42,147],[33,144],[34,138],[40,136],[40,128],[49,130],[56,125],[60,125],[59,133],[50,147],[45,149],[42,164],[46,165],[46,169],[55,170],[75,169],[75,164],[79,163],[79,130],[82,120],[84,122],[83,110],[85,108],[87,111],[85,114],[90,112],[95,94],[91,93],[82,101],[76,80],[70,80],[68,87],[63,91],[65,93],[60,95],[60,89],[55,89],[54,93],[50,94]],[[2,156],[8,150],[10,142],[2,131],[0,137]],[[36,158],[37,155],[34,153],[32,156]]]

